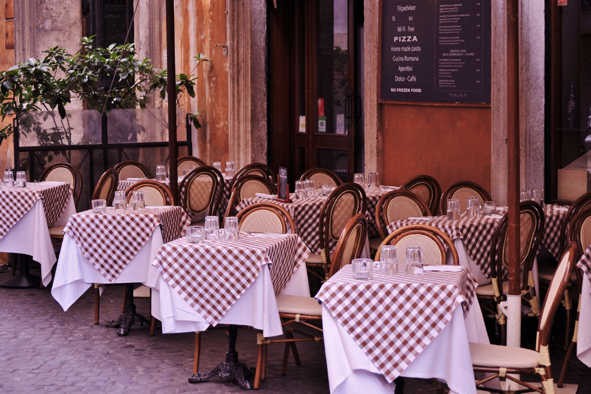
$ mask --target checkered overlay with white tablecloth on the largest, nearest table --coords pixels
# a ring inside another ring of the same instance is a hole
[[[322,285],[316,299],[330,393],[393,393],[394,379],[405,376],[476,394],[468,343],[489,343],[476,281],[463,266],[425,269],[413,276],[374,271],[364,281],[346,265]]]

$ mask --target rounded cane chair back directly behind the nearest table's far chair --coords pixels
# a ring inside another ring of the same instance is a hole
[[[382,239],[387,237],[386,226],[409,217],[428,216],[431,210],[411,191],[394,190],[384,194],[375,209],[375,222]]]

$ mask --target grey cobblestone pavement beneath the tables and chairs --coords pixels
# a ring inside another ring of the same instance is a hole
[[[33,271],[35,273],[35,271]],[[0,281],[10,273],[0,274]],[[124,286],[106,288],[101,297],[100,321],[121,312]],[[149,316],[147,298],[137,298],[138,312]],[[191,384],[194,334],[167,334],[149,327],[132,327],[126,337],[115,328],[93,324],[94,295],[89,289],[67,312],[51,297],[50,290],[0,288],[0,393],[241,393],[229,379],[213,378]],[[556,336],[560,343],[561,336]],[[225,331],[202,334],[200,371],[224,359],[228,340]],[[249,366],[256,363],[256,334],[239,330],[237,350]],[[554,346],[559,348],[560,346]],[[283,347],[269,346],[265,393],[329,393],[322,343],[298,344],[301,366],[293,357],[287,376],[281,376]],[[552,349],[552,348],[551,348]],[[563,351],[553,353],[558,370]],[[591,393],[591,370],[576,358],[571,362],[567,383],[579,383],[579,394]],[[421,380],[407,379],[405,393],[435,393]]]

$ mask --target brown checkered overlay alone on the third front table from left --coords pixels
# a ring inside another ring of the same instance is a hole
[[[216,325],[255,281],[262,265],[271,264],[277,295],[309,254],[296,234],[267,238],[241,233],[239,241],[174,240],[160,248],[152,265],[207,323]]]

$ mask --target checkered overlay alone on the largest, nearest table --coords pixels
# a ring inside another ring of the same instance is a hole
[[[475,289],[467,267],[361,281],[352,279],[346,265],[322,285],[316,299],[392,382],[452,320],[457,305],[466,315]]]

